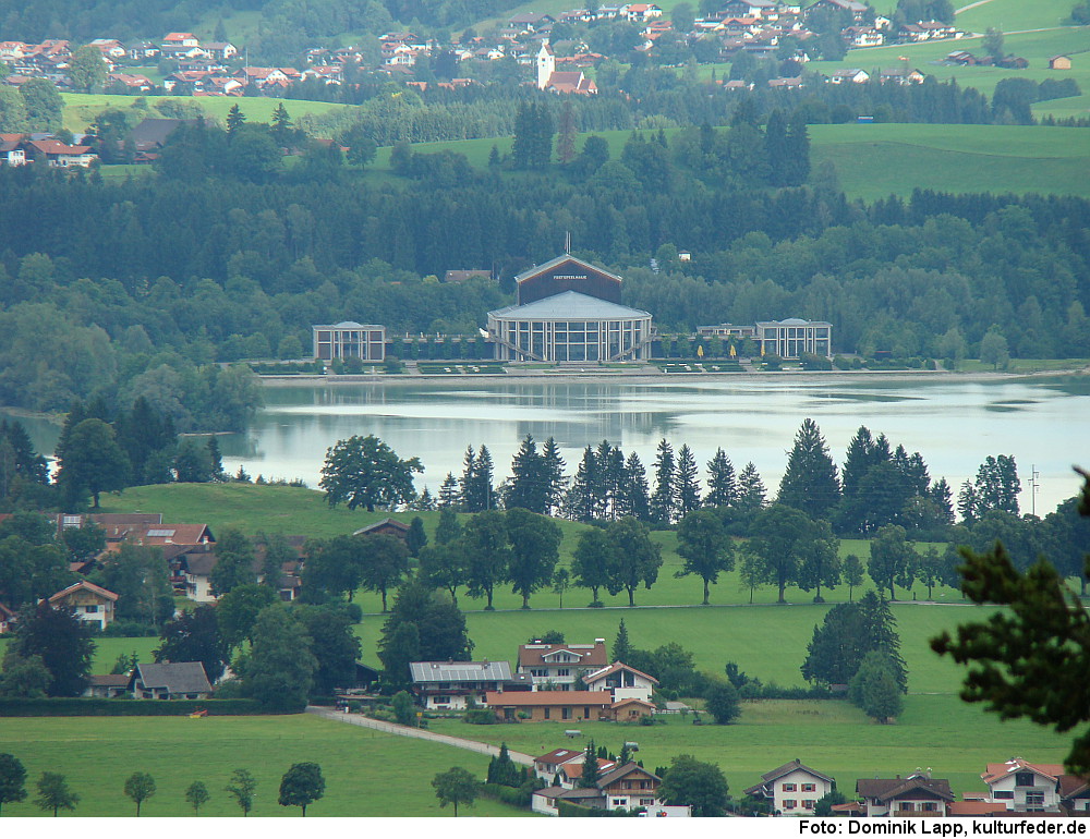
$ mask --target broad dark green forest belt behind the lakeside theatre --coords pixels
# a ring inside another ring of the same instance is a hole
[[[158,177],[2,171],[0,399],[131,399],[153,372],[299,357],[311,324],[346,318],[474,335],[568,232],[666,331],[798,316],[831,320],[838,352],[956,361],[992,333],[1015,356],[1090,355],[1086,200],[848,202],[833,172],[808,174],[797,112],[747,113],[633,133],[616,159],[592,136],[567,163],[525,169],[408,144],[402,174],[380,180],[322,146],[284,167],[267,129],[246,125],[180,132]],[[435,279],[451,268],[500,281]]]

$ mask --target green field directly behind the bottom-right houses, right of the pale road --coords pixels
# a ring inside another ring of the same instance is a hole
[[[562,731],[576,728],[595,744],[619,752],[625,741],[640,744],[638,757],[654,769],[677,754],[718,764],[731,794],[760,781],[762,773],[798,757],[836,778],[845,794],[857,778],[905,775],[931,767],[962,791],[984,791],[980,773],[985,763],[1018,755],[1028,761],[1061,763],[1069,738],[1057,737],[1024,722],[1002,722],[994,715],[966,705],[954,696],[908,696],[905,714],[892,726],[871,722],[846,702],[744,703],[736,725],[700,726],[680,716],[667,725],[631,726],[615,722],[571,722],[469,726],[433,720],[445,734],[471,737],[511,749],[544,754],[565,745],[579,747]],[[952,747],[957,744],[956,747]]]

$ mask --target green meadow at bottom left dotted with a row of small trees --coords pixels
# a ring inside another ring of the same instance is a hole
[[[450,816],[439,808],[432,778],[462,766],[483,778],[485,755],[318,719],[284,717],[73,717],[0,719],[3,751],[26,766],[31,794],[5,804],[5,816],[43,815],[34,806],[34,782],[44,770],[68,776],[81,795],[77,816],[130,816],[125,778],[146,771],[156,793],[142,815],[191,816],[183,798],[195,780],[211,794],[201,815],[239,816],[223,787],[234,769],[257,779],[254,816],[299,816],[277,804],[280,776],[292,763],[314,761],[326,779],[325,797],[307,808],[315,816]],[[396,795],[388,790],[397,790]],[[465,815],[521,816],[524,811],[481,800]]]

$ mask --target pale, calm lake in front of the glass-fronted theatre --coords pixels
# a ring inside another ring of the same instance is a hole
[[[664,437],[688,443],[703,465],[723,447],[736,471],[753,461],[774,495],[802,420],[821,426],[834,460],[860,425],[919,451],[933,478],[955,496],[989,454],[1013,454],[1022,510],[1033,508],[1031,467],[1040,473],[1039,514],[1078,491],[1074,463],[1090,465],[1090,377],[806,376],[519,382],[455,377],[374,384],[275,385],[243,434],[221,437],[225,467],[300,477],[316,487],[326,450],[373,434],[425,466],[417,489],[435,495],[447,472],[461,474],[467,446],[488,447],[497,483],[528,434],[555,437],[568,472],[603,439],[635,451],[649,475]]]

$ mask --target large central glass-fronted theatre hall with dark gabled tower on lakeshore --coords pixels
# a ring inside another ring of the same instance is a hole
[[[498,361],[651,357],[651,315],[620,304],[620,277],[565,254],[514,280],[518,304],[488,313]]]

